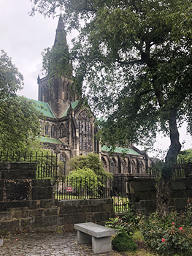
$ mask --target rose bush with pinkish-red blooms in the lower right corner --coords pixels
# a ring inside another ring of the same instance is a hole
[[[192,253],[191,204],[183,214],[172,212],[165,219],[152,214],[140,222],[145,244],[159,255],[185,255]]]

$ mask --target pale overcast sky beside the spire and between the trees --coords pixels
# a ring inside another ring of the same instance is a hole
[[[41,52],[53,46],[58,18],[44,18],[39,14],[31,17],[30,10],[30,0],[0,0],[0,50],[6,51],[24,76],[25,86],[18,94],[38,99],[37,76],[43,77]],[[68,43],[73,36],[67,37]],[[180,142],[183,140],[184,149],[192,148],[191,136],[186,135],[185,127],[180,130]],[[159,136],[155,148],[166,150],[168,147],[169,139]]]

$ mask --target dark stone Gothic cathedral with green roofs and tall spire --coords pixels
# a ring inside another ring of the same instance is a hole
[[[63,44],[64,50],[68,51],[61,16],[58,20],[54,45],[58,43]],[[142,176],[146,173],[147,168],[151,166],[150,158],[131,143],[126,148],[127,153],[123,158],[123,148],[117,147],[114,154],[110,155],[109,148],[99,145],[99,141],[94,138],[98,127],[94,125],[90,110],[83,106],[83,99],[77,99],[69,78],[64,76],[56,79],[47,75],[45,78],[38,76],[37,81],[39,100],[36,102],[44,108],[42,111],[45,115],[45,121],[41,121],[41,140],[45,147],[58,153],[59,159],[65,165],[64,174],[67,171],[66,162],[70,158],[90,152],[99,154],[104,169],[114,175]]]

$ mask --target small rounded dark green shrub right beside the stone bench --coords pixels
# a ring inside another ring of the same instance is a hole
[[[122,230],[115,238],[112,240],[112,246],[118,252],[134,252],[137,250],[137,244],[135,244],[133,238],[128,236],[125,230]]]

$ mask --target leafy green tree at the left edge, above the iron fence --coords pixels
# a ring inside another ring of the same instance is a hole
[[[0,53],[0,148],[20,151],[30,148],[41,132],[42,114],[32,100],[18,97],[23,76],[4,50]]]

